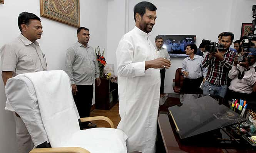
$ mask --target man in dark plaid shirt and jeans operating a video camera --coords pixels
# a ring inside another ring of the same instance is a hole
[[[234,34],[223,32],[220,43],[224,49],[214,53],[208,53],[202,62],[202,67],[208,67],[206,79],[204,80],[203,95],[219,96],[224,98],[227,92],[228,72],[232,67],[236,53],[229,47],[234,40]]]

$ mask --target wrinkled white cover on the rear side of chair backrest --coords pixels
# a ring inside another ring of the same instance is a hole
[[[35,146],[49,142],[32,82],[26,77],[17,76],[9,79],[5,86],[5,93],[7,103],[25,123]]]

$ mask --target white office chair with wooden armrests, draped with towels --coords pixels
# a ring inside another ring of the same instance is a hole
[[[62,71],[20,74],[8,79],[10,105],[25,123],[35,146],[30,153],[127,153],[127,135],[107,117],[80,118],[68,75]],[[105,120],[111,128],[80,130],[79,121]]]

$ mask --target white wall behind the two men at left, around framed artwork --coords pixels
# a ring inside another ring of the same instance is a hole
[[[0,47],[20,34],[17,25],[22,11],[40,16],[39,0],[6,0],[0,4]],[[107,48],[107,0],[80,0],[80,26],[90,29],[89,45]],[[46,55],[48,70],[63,70],[66,49],[77,41],[77,28],[40,17],[44,33],[38,40]],[[2,67],[0,66],[0,72]],[[5,111],[5,93],[0,79],[0,152],[17,153],[15,121],[12,113]]]

